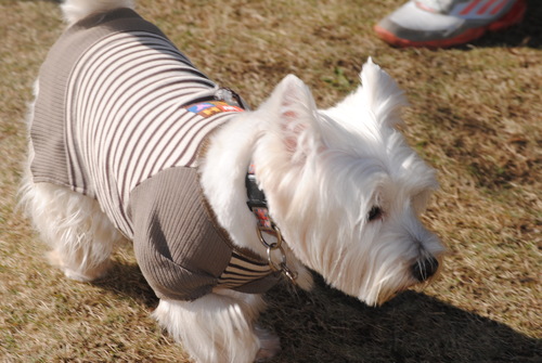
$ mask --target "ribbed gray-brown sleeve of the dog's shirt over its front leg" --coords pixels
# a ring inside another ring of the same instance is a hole
[[[178,167],[130,194],[136,257],[159,298],[193,300],[210,293],[231,258],[199,187],[195,169]]]

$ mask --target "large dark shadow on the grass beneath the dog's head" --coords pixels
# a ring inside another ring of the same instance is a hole
[[[380,308],[328,288],[268,294],[262,323],[281,337],[273,363],[541,362],[541,340],[406,291]]]

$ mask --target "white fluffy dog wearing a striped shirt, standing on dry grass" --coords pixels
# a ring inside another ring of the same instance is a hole
[[[331,109],[287,76],[244,111],[132,5],[67,0],[36,85],[23,202],[67,277],[103,276],[127,237],[154,317],[196,361],[238,363],[280,349],[255,322],[281,276],[379,304],[437,273],[435,172],[385,72],[370,60]]]

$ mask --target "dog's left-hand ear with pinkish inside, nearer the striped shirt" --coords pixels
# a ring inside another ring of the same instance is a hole
[[[299,78],[286,76],[276,86],[264,107],[264,112],[273,113],[275,131],[292,159],[300,161],[319,148],[320,116],[309,88]]]

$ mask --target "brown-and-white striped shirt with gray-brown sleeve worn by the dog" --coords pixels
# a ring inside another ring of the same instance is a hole
[[[204,139],[236,112],[154,25],[129,9],[69,27],[40,69],[30,126],[35,182],[95,198],[133,241],[160,298],[215,287],[260,294],[279,276],[231,243],[197,174]]]

